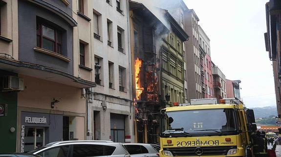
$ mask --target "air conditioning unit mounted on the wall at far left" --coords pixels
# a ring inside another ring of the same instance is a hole
[[[24,89],[23,78],[11,75],[2,78],[2,91],[22,91]]]

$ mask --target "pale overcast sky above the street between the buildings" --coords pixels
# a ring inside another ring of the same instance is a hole
[[[272,62],[265,51],[269,0],[184,0],[211,40],[211,58],[229,80],[241,80],[247,107],[276,106]]]

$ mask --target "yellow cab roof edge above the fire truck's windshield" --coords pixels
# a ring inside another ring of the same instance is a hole
[[[235,108],[233,104],[209,104],[209,105],[186,105],[186,106],[174,106],[166,108],[167,112],[170,111],[183,111],[183,110],[195,110],[195,109],[218,109],[218,108]]]

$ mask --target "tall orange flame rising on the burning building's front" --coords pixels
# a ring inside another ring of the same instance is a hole
[[[135,87],[136,87],[136,100],[140,99],[141,93],[144,90],[144,87],[141,87],[140,84],[140,68],[142,66],[142,60],[137,58],[135,60]]]

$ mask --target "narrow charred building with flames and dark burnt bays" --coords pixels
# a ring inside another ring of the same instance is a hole
[[[131,59],[134,81],[135,142],[156,143],[158,113],[163,106],[159,91],[159,36],[169,29],[142,3],[130,1]]]

